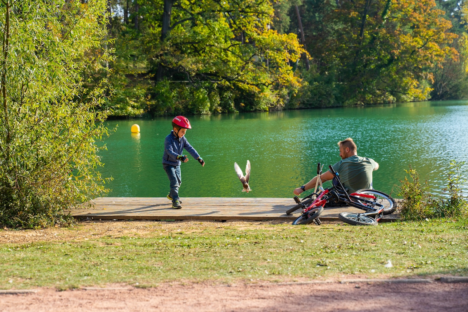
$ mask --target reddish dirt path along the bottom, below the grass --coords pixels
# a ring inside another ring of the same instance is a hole
[[[44,288],[35,294],[0,295],[0,311],[466,312],[467,293],[468,283],[161,284],[149,289],[66,291]]]

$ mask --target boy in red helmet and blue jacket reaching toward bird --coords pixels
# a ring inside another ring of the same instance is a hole
[[[172,131],[164,140],[164,155],[162,156],[162,167],[168,174],[170,182],[170,192],[168,199],[172,201],[172,208],[181,209],[181,200],[179,199],[179,187],[182,183],[180,172],[180,163],[187,162],[187,155],[183,154],[183,149],[192,155],[193,158],[205,166],[205,161],[198,155],[197,151],[189,144],[184,137],[187,129],[192,129],[190,122],[184,116],[176,116],[172,120]]]

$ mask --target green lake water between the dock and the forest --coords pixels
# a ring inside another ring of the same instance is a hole
[[[292,197],[293,189],[314,177],[317,162],[327,167],[340,160],[336,143],[347,137],[358,145],[358,155],[380,164],[373,187],[386,193],[396,189],[409,164],[438,192],[446,184],[450,160],[468,159],[467,101],[188,118],[192,129],[186,138],[206,164],[201,167],[191,157],[182,164],[181,197]],[[114,178],[109,196],[168,194],[161,160],[171,119],[109,121],[109,128],[118,124],[105,140],[108,150],[100,152],[101,173]],[[139,135],[130,132],[133,123],[139,124]],[[241,193],[234,172],[234,162],[245,170],[247,160],[252,166],[249,194]],[[468,164],[462,174],[468,177]]]

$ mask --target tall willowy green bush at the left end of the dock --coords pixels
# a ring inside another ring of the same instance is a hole
[[[106,194],[96,141],[109,134],[106,1],[0,3],[0,224],[66,224],[67,209]],[[93,52],[93,53],[91,53]],[[91,89],[86,88],[91,87]]]

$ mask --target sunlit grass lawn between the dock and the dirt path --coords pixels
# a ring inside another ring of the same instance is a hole
[[[468,220],[431,220],[360,227],[96,221],[0,230],[0,289],[468,275],[467,229]],[[388,260],[393,267],[384,267]]]

